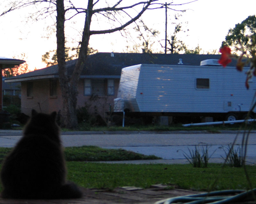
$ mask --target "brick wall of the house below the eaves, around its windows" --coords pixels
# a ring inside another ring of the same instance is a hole
[[[50,96],[50,80],[33,81],[33,96],[27,97],[28,82],[21,83],[21,112],[31,115],[31,110],[35,109],[42,113],[52,113],[52,111],[62,110],[62,97],[59,81],[57,81],[57,96]],[[109,111],[111,106],[113,110],[114,98],[116,98],[119,79],[115,79],[115,94],[113,96],[85,96],[84,79],[80,79],[78,84],[77,107],[88,106],[91,113],[97,112],[104,117],[105,112]]]

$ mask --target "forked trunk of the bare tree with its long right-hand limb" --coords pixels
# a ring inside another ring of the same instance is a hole
[[[81,47],[79,50],[79,56],[76,62],[76,66],[70,78],[67,74],[67,69],[65,67],[65,35],[64,35],[64,22],[65,22],[65,8],[64,0],[56,0],[57,3],[57,58],[58,58],[58,67],[59,67],[59,80],[60,87],[62,92],[63,99],[63,112],[61,113],[63,118],[63,125],[67,128],[74,128],[77,126],[77,117],[76,117],[76,105],[77,105],[77,87],[79,83],[80,74],[84,68],[84,63],[87,58],[87,50],[90,35],[93,34],[105,34],[112,33],[118,30],[124,29],[124,27],[130,25],[134,21],[138,20],[139,17],[148,9],[148,6],[154,0],[149,0],[146,5],[143,7],[142,11],[138,13],[136,17],[129,20],[120,27],[116,27],[109,30],[102,31],[90,31],[90,25],[93,14],[93,0],[88,0],[88,5],[86,9],[86,17],[84,22],[84,30],[82,36]],[[108,8],[106,8],[108,9]],[[99,11],[98,11],[99,12]]]

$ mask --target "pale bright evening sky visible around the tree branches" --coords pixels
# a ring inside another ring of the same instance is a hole
[[[175,0],[174,3],[184,1]],[[198,0],[191,4],[172,8],[188,9],[182,13],[179,22],[182,22],[182,27],[189,31],[181,32],[178,37],[189,49],[195,49],[199,45],[202,53],[205,54],[207,51],[218,51],[230,28],[234,28],[237,23],[241,23],[249,15],[256,15],[255,0]],[[50,31],[47,29],[47,26],[52,25],[54,19],[26,22],[25,14],[29,12],[31,11],[26,11],[26,9],[17,10],[0,17],[0,56],[21,59],[21,54],[25,53],[24,60],[27,61],[29,69],[33,70],[35,67],[39,69],[46,66],[42,63],[42,55],[56,49],[56,35],[54,32],[50,35]],[[174,14],[177,13],[180,12],[168,11],[167,30],[169,34],[173,32],[172,22],[174,22]],[[160,31],[158,39],[164,39],[164,9],[147,11],[142,15],[142,20],[149,28]],[[76,21],[76,26],[82,28],[84,19],[77,18]],[[95,26],[101,25],[95,24]],[[104,27],[104,23],[102,27]],[[70,32],[67,36],[79,41],[79,31],[81,30],[75,26],[70,26],[68,29]],[[130,30],[133,32],[132,27]],[[132,36],[123,37],[120,32],[116,32],[92,35],[89,43],[90,47],[99,52],[125,52],[126,46],[132,47],[133,41],[136,39],[137,35],[134,33]],[[164,44],[164,41],[161,42]],[[71,45],[70,41],[68,45]]]

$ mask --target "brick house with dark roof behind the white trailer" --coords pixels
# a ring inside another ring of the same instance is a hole
[[[220,59],[220,55],[100,52],[90,55],[80,76],[77,107],[86,104],[92,112],[97,111],[104,117],[113,109],[123,67],[136,64],[200,65],[205,59]],[[75,63],[76,59],[66,63],[69,75]],[[58,66],[54,65],[7,78],[5,82],[21,82],[21,112],[30,115],[31,109],[44,113],[62,110],[58,78]]]

